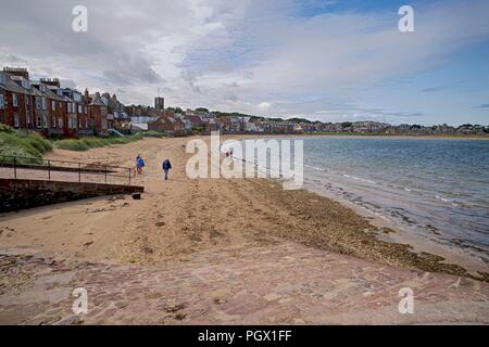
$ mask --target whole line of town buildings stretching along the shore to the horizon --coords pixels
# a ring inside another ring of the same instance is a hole
[[[105,136],[112,129],[135,132],[165,131],[173,136],[191,133],[379,133],[379,134],[488,134],[489,127],[463,125],[457,128],[419,125],[391,126],[378,121],[321,123],[302,118],[280,119],[240,114],[164,108],[164,98],[154,107],[125,106],[115,94],[80,92],[62,88],[57,78],[32,80],[26,68],[0,70],[0,123],[35,130],[46,137]]]

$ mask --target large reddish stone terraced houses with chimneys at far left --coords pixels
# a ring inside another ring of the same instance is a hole
[[[108,134],[130,121],[115,94],[62,88],[58,78],[32,80],[26,68],[0,72],[0,123],[46,137]]]

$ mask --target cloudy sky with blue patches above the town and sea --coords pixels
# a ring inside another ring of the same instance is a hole
[[[0,65],[126,104],[489,125],[488,14],[489,0],[0,0]]]

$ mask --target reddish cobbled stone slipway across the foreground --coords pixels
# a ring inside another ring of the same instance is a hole
[[[277,241],[115,266],[2,252],[1,324],[489,323],[489,285]],[[87,314],[72,311],[88,292]],[[414,313],[399,312],[399,291]]]

